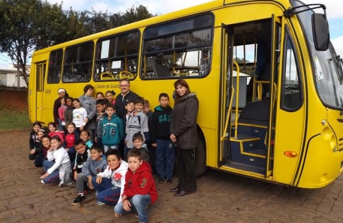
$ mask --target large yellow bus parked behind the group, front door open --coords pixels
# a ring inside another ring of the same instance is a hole
[[[342,60],[324,5],[211,1],[36,51],[30,119],[54,120],[58,88],[119,94],[124,77],[152,107],[176,79],[196,92],[198,175],[318,188],[342,172]]]

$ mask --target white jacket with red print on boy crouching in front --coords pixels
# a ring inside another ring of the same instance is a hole
[[[102,176],[102,178],[111,179],[114,186],[121,187],[120,194],[123,194],[126,172],[128,172],[128,163],[121,160],[120,166],[117,168],[117,170],[112,170],[109,166],[107,166],[104,172],[100,172],[97,175]],[[118,202],[120,201],[121,196],[119,196]]]

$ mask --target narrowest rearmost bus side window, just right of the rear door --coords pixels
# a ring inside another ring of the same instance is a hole
[[[62,71],[63,50],[51,51],[49,57],[49,69],[47,73],[47,83],[60,83]]]

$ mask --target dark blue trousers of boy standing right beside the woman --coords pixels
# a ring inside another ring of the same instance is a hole
[[[171,140],[156,140],[156,171],[159,178],[172,179],[175,165],[175,147]]]

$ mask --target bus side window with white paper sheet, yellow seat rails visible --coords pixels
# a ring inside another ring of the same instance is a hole
[[[138,51],[139,31],[99,40],[95,56],[95,81],[136,77]]]

